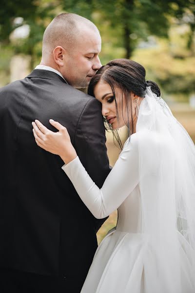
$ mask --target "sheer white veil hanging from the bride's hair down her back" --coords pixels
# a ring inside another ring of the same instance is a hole
[[[148,247],[145,291],[193,293],[195,145],[150,86],[139,109],[137,140],[141,231]]]

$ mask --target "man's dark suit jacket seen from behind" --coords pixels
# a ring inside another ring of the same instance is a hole
[[[83,280],[97,249],[97,220],[63,172],[37,146],[32,121],[66,126],[100,188],[109,173],[101,105],[58,74],[35,69],[0,89],[0,267]]]

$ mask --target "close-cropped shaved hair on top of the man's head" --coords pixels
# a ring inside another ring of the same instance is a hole
[[[72,50],[81,34],[88,29],[98,32],[96,25],[82,16],[74,13],[59,14],[45,29],[42,54],[51,54],[57,46]]]

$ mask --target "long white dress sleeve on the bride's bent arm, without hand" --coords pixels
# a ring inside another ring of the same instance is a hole
[[[98,218],[104,218],[117,209],[138,184],[138,147],[136,134],[125,143],[118,160],[102,188],[93,182],[79,158],[62,169],[72,181],[83,203]]]

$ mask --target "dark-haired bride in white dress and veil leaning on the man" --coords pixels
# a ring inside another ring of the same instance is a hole
[[[102,66],[88,93],[101,102],[113,131],[124,125],[129,131],[101,189],[64,126],[50,120],[59,130],[52,132],[33,122],[38,146],[62,158],[93,215],[118,209],[117,227],[99,245],[81,293],[195,293],[194,143],[134,61]]]

